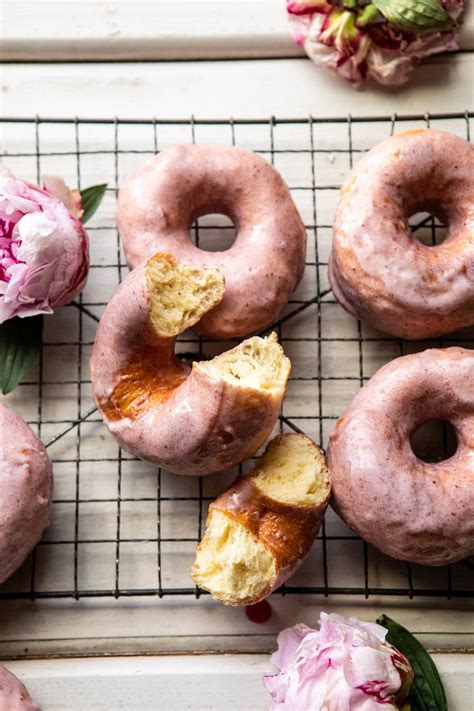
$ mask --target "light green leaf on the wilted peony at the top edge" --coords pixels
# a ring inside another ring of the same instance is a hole
[[[387,22],[406,32],[432,32],[456,27],[438,0],[372,0]]]

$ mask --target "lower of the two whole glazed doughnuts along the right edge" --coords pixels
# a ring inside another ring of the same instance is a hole
[[[411,435],[449,421],[456,453],[418,459]],[[474,351],[396,358],[358,392],[330,437],[333,502],[346,523],[393,558],[444,565],[474,553]]]

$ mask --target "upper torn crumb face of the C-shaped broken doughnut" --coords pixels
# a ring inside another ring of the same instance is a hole
[[[165,252],[148,260],[146,285],[151,321],[163,337],[190,328],[224,297],[224,277],[217,269],[182,266]]]

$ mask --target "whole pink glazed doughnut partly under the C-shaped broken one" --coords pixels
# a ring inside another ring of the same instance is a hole
[[[196,247],[196,218],[228,215],[237,238],[224,252]],[[134,172],[120,189],[117,222],[130,268],[155,252],[183,264],[216,268],[225,278],[221,303],[196,330],[240,338],[272,324],[303,276],[306,231],[277,171],[251,151],[172,146]]]

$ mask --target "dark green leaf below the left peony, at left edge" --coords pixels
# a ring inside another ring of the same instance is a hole
[[[0,326],[0,389],[8,395],[41,350],[43,316],[12,318]]]

